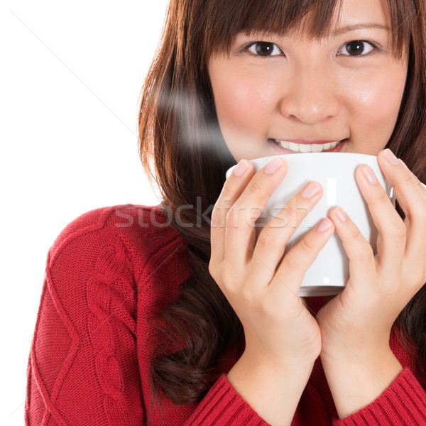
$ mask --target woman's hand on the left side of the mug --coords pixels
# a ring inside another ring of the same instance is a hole
[[[287,163],[278,157],[257,173],[246,160],[234,169],[212,212],[209,272],[244,327],[246,365],[310,371],[321,351],[321,333],[298,294],[334,225],[324,219],[283,256],[290,236],[322,196],[320,184],[310,182],[256,241],[256,219],[286,173]]]

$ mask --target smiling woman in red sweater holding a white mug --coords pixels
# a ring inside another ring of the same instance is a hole
[[[53,244],[28,424],[424,424],[425,41],[420,0],[171,1],[139,116],[164,202],[88,212]],[[357,170],[376,257],[339,208],[284,257],[285,230],[232,225],[285,179],[247,160],[327,143],[378,155],[394,187],[401,216]],[[334,231],[346,288],[290,297]]]

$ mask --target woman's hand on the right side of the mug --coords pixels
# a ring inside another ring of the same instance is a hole
[[[350,278],[317,315],[323,361],[356,356],[368,363],[371,354],[386,353],[393,322],[426,282],[425,187],[388,149],[378,154],[378,164],[405,219],[373,170],[360,166],[356,181],[378,229],[377,254],[342,208],[333,209],[329,217],[349,258]]]

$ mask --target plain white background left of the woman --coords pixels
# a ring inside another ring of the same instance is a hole
[[[24,422],[28,353],[56,236],[98,207],[158,204],[136,120],[167,4],[1,3],[1,425]]]

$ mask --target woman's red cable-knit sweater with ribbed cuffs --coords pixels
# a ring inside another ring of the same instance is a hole
[[[87,212],[48,253],[28,364],[26,425],[267,425],[236,393],[226,373],[201,403],[163,401],[151,413],[148,318],[178,296],[190,273],[186,244],[158,207],[127,204]],[[317,312],[326,297],[308,297]],[[338,420],[320,359],[292,426],[426,425],[426,393],[393,329],[391,349],[404,367],[373,403]],[[424,382],[422,382],[424,383]]]

